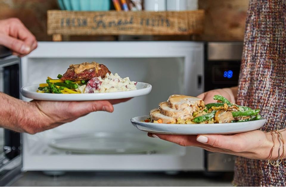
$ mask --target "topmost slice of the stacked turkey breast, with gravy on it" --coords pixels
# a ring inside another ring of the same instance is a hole
[[[205,103],[202,99],[185,95],[171,95],[168,99],[168,106],[172,109],[181,110],[186,107],[204,107]]]

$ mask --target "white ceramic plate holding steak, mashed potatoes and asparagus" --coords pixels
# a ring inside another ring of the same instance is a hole
[[[46,101],[92,101],[143,96],[149,94],[152,90],[152,86],[144,82],[137,82],[137,90],[96,94],[46,94],[36,92],[38,87],[39,84],[25,86],[21,88],[21,94],[31,99]]]

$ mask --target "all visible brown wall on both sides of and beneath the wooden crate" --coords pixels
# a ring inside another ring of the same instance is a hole
[[[249,0],[199,0],[206,10],[205,32],[197,40],[243,40]],[[39,41],[51,40],[46,34],[46,11],[59,9],[57,0],[0,0],[0,19],[17,17]],[[72,37],[72,40],[113,40],[115,37]],[[160,38],[160,37],[159,37]],[[168,40],[168,37],[161,37]],[[178,37],[178,40],[190,37]],[[176,37],[171,37],[174,40]]]

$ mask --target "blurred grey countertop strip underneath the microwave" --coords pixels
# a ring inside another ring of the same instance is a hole
[[[232,174],[206,176],[201,172],[66,172],[48,176],[24,172],[9,186],[232,186]]]

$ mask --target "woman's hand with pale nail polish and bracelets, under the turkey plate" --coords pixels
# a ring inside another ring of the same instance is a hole
[[[280,130],[286,137],[286,129]],[[227,153],[251,159],[268,160],[273,147],[273,135],[261,130],[233,135],[167,135],[148,133],[149,137],[160,138],[181,146],[195,146],[210,152]],[[278,157],[278,135],[276,134],[276,147],[273,150],[271,160]],[[282,147],[280,155],[282,155]],[[285,158],[284,155],[283,158]]]

